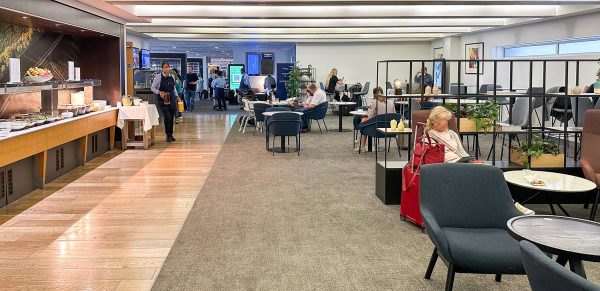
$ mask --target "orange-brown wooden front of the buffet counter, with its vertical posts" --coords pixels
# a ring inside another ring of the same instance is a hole
[[[79,158],[81,164],[85,165],[88,157],[91,156],[90,144],[92,148],[98,147],[98,137],[94,134],[106,130],[108,130],[108,150],[114,148],[118,112],[117,108],[109,108],[0,138],[0,168],[34,157],[35,174],[39,178],[36,184],[43,188],[46,183],[49,150],[78,141]],[[57,158],[57,164],[61,159],[64,160],[64,152],[61,150],[58,153],[60,158]],[[58,168],[59,166],[57,170]]]

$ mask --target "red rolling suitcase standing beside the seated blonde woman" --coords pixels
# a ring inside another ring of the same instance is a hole
[[[417,125],[417,131],[419,126]],[[418,134],[415,133],[415,149],[411,160],[402,169],[402,196],[400,198],[400,216],[415,225],[424,228],[423,216],[421,216],[421,206],[419,204],[419,175],[421,165],[443,163],[444,145],[440,143],[432,144],[431,137],[426,129],[424,134],[427,142],[417,143]]]

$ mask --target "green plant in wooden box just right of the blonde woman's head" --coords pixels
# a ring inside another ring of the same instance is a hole
[[[460,132],[483,131],[488,133],[493,130],[494,120],[498,119],[500,106],[486,101],[479,104],[468,104],[465,111],[466,117],[460,118]]]

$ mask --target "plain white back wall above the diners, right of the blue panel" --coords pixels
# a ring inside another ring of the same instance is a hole
[[[348,83],[371,82],[372,91],[377,79],[377,61],[431,59],[430,42],[371,42],[371,43],[298,43],[296,59],[302,67],[316,68],[316,81],[325,82],[332,68],[338,69],[338,77]],[[379,86],[385,89],[385,66],[379,68]],[[416,71],[416,68],[414,69]],[[408,66],[390,64],[388,79],[410,79]],[[327,84],[325,84],[327,86]],[[370,93],[369,93],[370,95]]]

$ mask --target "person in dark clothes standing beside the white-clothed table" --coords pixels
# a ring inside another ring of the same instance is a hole
[[[170,73],[171,66],[169,62],[162,62],[161,69],[161,73],[154,77],[151,89],[154,94],[158,95],[156,105],[158,105],[164,118],[167,142],[172,142],[175,141],[173,123],[177,113],[177,102],[180,99],[175,89],[175,77]]]

